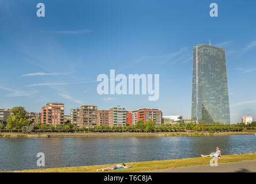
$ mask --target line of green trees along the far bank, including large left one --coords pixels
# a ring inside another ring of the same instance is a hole
[[[7,119],[7,124],[0,123],[0,129],[21,129],[24,126],[28,126],[29,121],[26,117],[25,109],[22,107],[15,107],[10,110],[10,116]],[[57,125],[56,127],[46,124],[36,124],[34,129],[51,129],[51,130],[66,130],[66,131],[103,131],[103,130],[123,130],[123,131],[243,131],[244,129],[255,130],[256,122],[251,124],[223,124],[220,122],[214,122],[213,124],[199,123],[195,124],[194,122],[189,122],[185,124],[184,121],[180,121],[176,124],[162,124],[156,126],[155,122],[149,120],[144,124],[143,120],[139,120],[136,125],[131,126],[96,126],[93,128],[78,128],[75,125],[68,122],[64,125]]]

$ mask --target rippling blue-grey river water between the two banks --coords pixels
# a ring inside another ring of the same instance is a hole
[[[256,136],[1,138],[0,170],[38,168],[38,152],[45,154],[46,167],[69,167],[193,158],[215,147],[223,155],[256,152]]]

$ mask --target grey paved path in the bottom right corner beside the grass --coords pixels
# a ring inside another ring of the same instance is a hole
[[[204,166],[189,166],[179,168],[167,168],[163,170],[149,171],[152,173],[256,173],[256,160],[221,163],[217,167],[209,165]]]

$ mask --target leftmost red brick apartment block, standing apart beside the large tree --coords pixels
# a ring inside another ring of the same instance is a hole
[[[62,103],[47,103],[42,108],[41,122],[44,124],[61,125],[64,123],[65,105]]]

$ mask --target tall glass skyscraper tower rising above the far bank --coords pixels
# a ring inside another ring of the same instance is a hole
[[[193,55],[191,119],[230,124],[225,49],[199,44]]]

